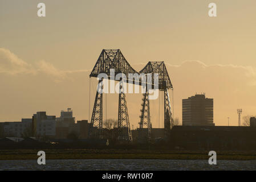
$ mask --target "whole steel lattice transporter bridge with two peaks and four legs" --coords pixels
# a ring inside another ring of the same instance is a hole
[[[165,67],[164,61],[149,61],[148,64],[141,69],[140,72],[137,72],[131,67],[128,61],[125,59],[120,49],[103,49],[100,53],[97,62],[92,69],[90,77],[97,77],[100,73],[105,73],[108,79],[115,80],[115,77],[111,77],[110,70],[115,69],[115,76],[118,73],[123,73],[127,78],[122,78],[124,82],[131,82],[133,84],[142,85],[143,82],[139,78],[139,82],[133,78],[133,80],[128,80],[129,73],[138,75],[144,73],[145,75],[152,75],[152,88],[156,86],[154,82],[153,73],[158,74],[159,76],[159,85],[158,89],[164,91],[164,127],[165,127],[165,136],[167,137],[169,130],[173,126],[173,117],[172,110],[170,107],[170,100],[168,89],[173,89],[172,82],[170,81],[168,71]],[[147,81],[148,82],[148,81]],[[145,102],[144,102],[145,101]],[[150,123],[150,112],[149,112],[149,100],[148,94],[144,94],[143,101],[143,111],[141,111],[141,121],[140,128],[143,129],[144,126],[148,127],[148,138],[151,136],[151,123]],[[146,104],[147,103],[147,104]],[[125,94],[119,94],[119,114],[118,114],[118,127],[119,127],[119,138],[132,141],[131,129],[129,126],[129,117],[127,104],[125,100]],[[94,135],[94,129],[97,129],[97,134],[100,136],[102,129],[102,94],[96,93],[94,109],[91,118],[91,129],[90,136]],[[124,132],[123,132],[124,131]]]

